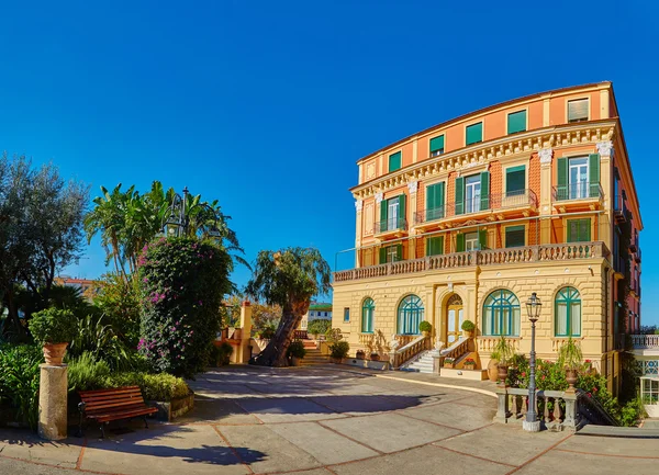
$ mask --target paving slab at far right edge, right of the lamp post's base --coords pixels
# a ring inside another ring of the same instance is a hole
[[[604,455],[652,456],[657,457],[655,463],[659,473],[659,440],[657,439],[573,436],[556,449]]]

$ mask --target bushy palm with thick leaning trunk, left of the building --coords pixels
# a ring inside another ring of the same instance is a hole
[[[263,297],[269,305],[279,305],[282,317],[275,337],[253,361],[266,366],[284,366],[286,352],[293,331],[309,309],[311,298],[326,294],[330,289],[330,264],[313,248],[288,248],[260,251],[247,294]]]

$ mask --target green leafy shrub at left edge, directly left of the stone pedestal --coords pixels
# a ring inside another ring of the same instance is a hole
[[[38,381],[43,351],[33,344],[0,347],[0,403],[14,410],[14,419],[36,429]]]

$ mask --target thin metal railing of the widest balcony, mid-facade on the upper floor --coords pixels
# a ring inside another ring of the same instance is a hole
[[[487,199],[478,196],[460,203],[448,203],[435,208],[414,213],[414,224],[431,223],[446,217],[479,213],[489,210],[537,206],[537,196],[533,190],[511,191],[502,194],[490,194]]]

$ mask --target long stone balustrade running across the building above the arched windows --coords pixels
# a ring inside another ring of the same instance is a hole
[[[334,273],[334,282],[373,279],[386,275],[412,274],[416,272],[465,268],[470,265],[566,261],[574,259],[602,258],[606,256],[608,256],[608,249],[603,242],[600,241],[526,246],[507,249],[488,249],[480,251],[454,252],[440,256],[427,256],[420,259],[339,271]]]

